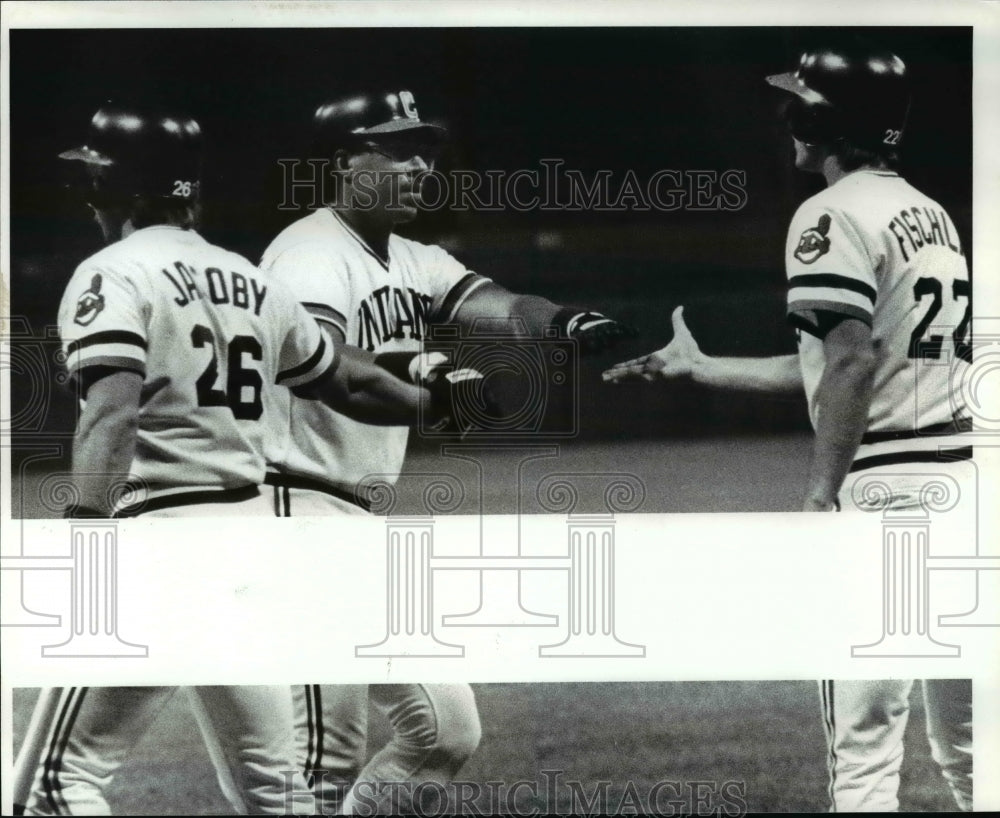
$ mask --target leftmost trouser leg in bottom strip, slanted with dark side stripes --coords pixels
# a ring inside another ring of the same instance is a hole
[[[175,691],[64,688],[27,814],[110,815],[108,785]]]

